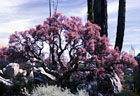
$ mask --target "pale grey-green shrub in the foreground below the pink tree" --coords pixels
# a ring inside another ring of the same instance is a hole
[[[31,96],[88,96],[88,93],[80,90],[77,94],[72,94],[68,89],[57,86],[39,86],[32,91]]]

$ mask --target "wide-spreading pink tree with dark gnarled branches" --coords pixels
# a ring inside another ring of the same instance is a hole
[[[110,49],[109,39],[99,31],[96,24],[83,25],[78,17],[69,19],[57,13],[42,25],[12,34],[9,46],[31,62],[39,62],[61,85],[91,73],[102,78],[115,72],[123,79],[123,69],[137,62],[125,52]]]

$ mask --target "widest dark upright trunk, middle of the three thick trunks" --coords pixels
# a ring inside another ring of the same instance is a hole
[[[107,32],[107,0],[94,0],[94,23],[101,27],[100,35],[108,36]]]

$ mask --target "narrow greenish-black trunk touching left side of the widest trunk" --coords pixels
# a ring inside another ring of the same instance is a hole
[[[93,23],[93,0],[87,0],[88,4],[88,20]]]

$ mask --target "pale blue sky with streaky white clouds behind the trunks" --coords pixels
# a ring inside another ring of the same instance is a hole
[[[48,0],[0,0],[0,45],[7,45],[10,34],[42,24],[49,17]],[[55,2],[55,0],[53,0]],[[108,1],[108,37],[114,45],[117,30],[118,2]],[[123,50],[134,47],[140,53],[140,0],[126,0],[126,26]],[[87,21],[87,0],[59,0],[58,13],[78,16]],[[113,46],[112,46],[113,47]]]

